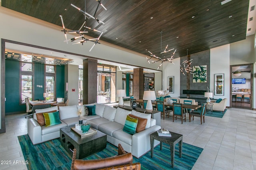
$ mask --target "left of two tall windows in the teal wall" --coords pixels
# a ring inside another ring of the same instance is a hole
[[[20,103],[25,103],[25,98],[32,100],[32,63],[20,63]]]

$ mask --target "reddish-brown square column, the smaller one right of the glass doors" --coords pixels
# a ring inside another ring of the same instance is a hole
[[[143,99],[144,74],[143,68],[133,69],[133,96],[135,99]]]

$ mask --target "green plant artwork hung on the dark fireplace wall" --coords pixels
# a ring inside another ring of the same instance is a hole
[[[193,67],[193,83],[206,83],[207,65]]]

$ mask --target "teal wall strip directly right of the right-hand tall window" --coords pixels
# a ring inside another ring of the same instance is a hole
[[[65,97],[65,66],[56,66],[56,98]]]

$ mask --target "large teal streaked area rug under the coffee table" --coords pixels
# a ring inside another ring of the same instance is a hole
[[[28,135],[18,137],[24,159],[28,160],[28,170],[70,170],[71,156],[64,150],[59,139],[33,145]],[[178,144],[175,146],[174,168],[170,168],[170,146],[163,144],[154,149],[154,158],[151,152],[141,158],[133,157],[133,162],[140,162],[142,170],[190,170],[194,166],[202,148],[183,143],[182,158],[179,158]],[[118,148],[107,143],[106,149],[84,159],[99,159],[118,154]]]

